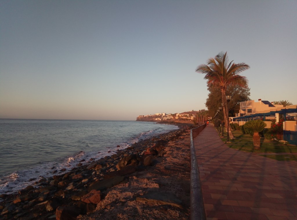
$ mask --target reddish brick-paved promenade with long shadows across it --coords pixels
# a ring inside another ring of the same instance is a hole
[[[228,148],[209,124],[194,139],[207,220],[297,220],[297,162]]]

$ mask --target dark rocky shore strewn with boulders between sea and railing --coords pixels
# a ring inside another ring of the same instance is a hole
[[[189,130],[143,140],[0,195],[0,219],[189,219],[189,154]]]

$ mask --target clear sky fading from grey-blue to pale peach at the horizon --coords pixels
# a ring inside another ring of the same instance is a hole
[[[0,118],[207,109],[200,64],[244,62],[250,99],[297,104],[296,0],[0,2]]]

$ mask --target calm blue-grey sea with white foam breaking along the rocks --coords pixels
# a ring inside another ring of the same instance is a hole
[[[0,194],[174,129],[178,127],[141,121],[0,119]]]

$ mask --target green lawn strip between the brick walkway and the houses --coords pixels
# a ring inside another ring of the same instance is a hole
[[[260,149],[255,150],[253,145],[253,138],[249,134],[242,134],[241,131],[232,131],[235,140],[230,140],[227,143],[229,148],[233,148],[239,151],[254,152],[254,153],[274,153],[273,155],[261,155],[266,156],[276,160],[297,161],[297,155],[290,153],[297,153],[297,146],[295,145],[285,145],[279,143],[278,141],[266,140],[261,138]],[[221,133],[219,134],[222,135]],[[227,141],[227,132],[224,131],[224,137],[221,137],[222,141]],[[279,154],[275,154],[279,153]]]

